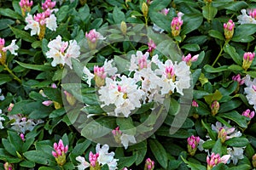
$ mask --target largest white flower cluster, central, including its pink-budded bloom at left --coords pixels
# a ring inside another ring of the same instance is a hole
[[[113,76],[117,69],[110,65],[107,69],[108,62],[105,62],[101,68],[95,66],[97,69],[94,70],[94,75],[84,67],[89,85],[90,80],[98,75],[99,70],[101,71],[101,78],[105,81],[98,91],[99,99],[103,103],[101,106],[115,107],[108,115],[127,117],[131,111],[141,107],[142,103],[157,101],[162,104],[166,94],[177,92],[183,95],[183,88],[190,87],[190,71],[186,62],[173,64],[171,59],[167,59],[163,63],[158,59],[158,55],[154,55],[151,60],[148,59],[148,55],[148,52],[143,54],[141,51],[131,55],[129,71],[134,73],[133,77]],[[151,66],[153,63],[155,69]],[[139,83],[141,86],[138,85]]]

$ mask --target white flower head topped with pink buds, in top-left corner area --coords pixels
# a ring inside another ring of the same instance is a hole
[[[48,8],[43,13],[35,14],[33,17],[31,14],[27,14],[25,19],[26,26],[24,29],[31,29],[31,36],[37,34],[39,39],[42,40],[44,38],[46,27],[49,28],[50,31],[56,31],[56,20],[55,14],[51,14],[51,10]]]

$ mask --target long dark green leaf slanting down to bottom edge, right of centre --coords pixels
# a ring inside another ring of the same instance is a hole
[[[166,155],[166,150],[162,144],[156,139],[149,139],[149,147],[152,150],[155,159],[159,162],[161,167],[167,168],[168,159]]]

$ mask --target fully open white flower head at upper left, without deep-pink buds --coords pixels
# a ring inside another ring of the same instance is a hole
[[[77,59],[80,54],[80,47],[75,40],[62,42],[59,35],[48,43],[49,51],[46,52],[47,58],[53,58],[52,66],[67,64],[73,69],[71,58]]]

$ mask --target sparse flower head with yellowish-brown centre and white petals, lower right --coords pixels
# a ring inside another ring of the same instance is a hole
[[[212,130],[218,133],[218,139],[221,139],[222,143],[228,139],[241,136],[241,132],[237,132],[235,127],[222,126],[221,122],[216,122],[216,126],[212,125]]]

